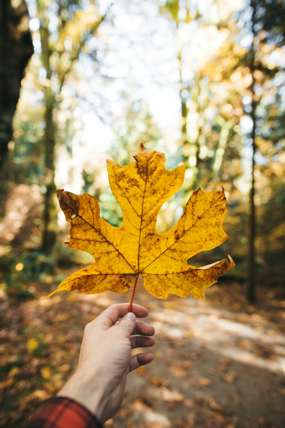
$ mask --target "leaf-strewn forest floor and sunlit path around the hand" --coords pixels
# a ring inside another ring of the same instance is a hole
[[[70,273],[72,269],[68,272]],[[67,276],[67,275],[66,275]],[[131,293],[85,295],[32,285],[36,299],[1,303],[0,426],[19,428],[71,374],[84,326]],[[31,286],[30,286],[31,289]],[[281,428],[285,426],[285,292],[220,282],[206,300],[152,297],[135,303],[155,329],[154,360],[128,375],[112,428]]]

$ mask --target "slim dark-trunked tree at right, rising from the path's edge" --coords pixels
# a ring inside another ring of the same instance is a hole
[[[246,9],[250,16],[249,31],[251,33],[252,42],[248,49],[247,55],[242,62],[249,68],[252,80],[249,86],[250,93],[250,118],[252,121],[252,129],[250,132],[252,159],[251,159],[251,190],[250,190],[250,223],[249,223],[249,272],[247,298],[250,302],[256,300],[256,155],[261,155],[262,140],[269,139],[270,133],[262,132],[260,126],[263,114],[259,113],[261,105],[265,102],[265,95],[268,95],[270,82],[274,79],[282,67],[268,61],[268,52],[276,51],[280,46],[284,45],[285,41],[285,25],[282,24],[282,16],[284,16],[284,2],[278,0],[259,1],[250,0]],[[263,103],[261,103],[263,101]],[[247,107],[248,108],[248,107]],[[272,120],[272,116],[267,116],[267,121]],[[276,113],[274,114],[276,116]],[[275,117],[276,119],[276,117]]]

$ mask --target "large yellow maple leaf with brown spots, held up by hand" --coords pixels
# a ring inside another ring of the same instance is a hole
[[[223,190],[196,190],[176,225],[159,235],[159,210],[182,186],[185,166],[167,171],[164,153],[142,145],[134,158],[136,162],[126,166],[107,160],[109,183],[123,211],[120,227],[100,217],[99,202],[93,196],[57,190],[60,207],[70,223],[65,242],[91,254],[95,262],[62,281],[53,293],[76,289],[85,294],[106,290],[123,293],[141,274],[145,288],[155,297],[164,299],[168,293],[187,297],[191,293],[205,299],[203,290],[235,264],[229,257],[230,263],[223,259],[195,268],[187,260],[228,238],[222,228],[226,215]]]

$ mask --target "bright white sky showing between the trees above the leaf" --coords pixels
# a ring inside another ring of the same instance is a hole
[[[89,101],[96,102],[99,94],[109,104],[107,113],[123,115],[126,104],[121,97],[122,92],[128,94],[132,101],[145,100],[154,121],[163,130],[167,143],[173,144],[179,138],[181,119],[179,71],[175,61],[176,39],[171,24],[160,16],[153,0],[118,1],[112,6],[112,12],[114,25],[106,21],[100,27],[103,37],[108,37],[108,51],[100,65],[100,72],[109,77],[107,85],[106,81],[94,79],[91,71],[93,64],[88,65],[88,60],[82,58],[82,69],[90,75],[87,77],[90,83],[88,91],[90,86],[94,91],[93,95],[89,92]],[[97,41],[98,46],[100,50],[100,41]],[[100,113],[102,115],[106,111]],[[86,125],[87,117],[84,115]],[[105,116],[103,122],[106,120],[108,122]],[[85,136],[92,139],[92,126],[85,126]],[[104,141],[104,146],[108,144],[105,136],[106,129],[102,125],[101,134],[97,134],[99,150],[102,150],[99,140]],[[109,134],[109,143],[111,141],[112,134]]]

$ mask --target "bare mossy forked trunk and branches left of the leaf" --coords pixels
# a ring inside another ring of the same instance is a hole
[[[44,194],[44,231],[42,235],[42,244],[41,249],[47,254],[52,253],[54,244],[56,243],[56,235],[58,231],[57,227],[57,202],[56,202],[56,186],[54,183],[55,177],[55,148],[56,148],[56,124],[55,124],[55,111],[58,110],[56,100],[56,92],[57,95],[60,95],[62,86],[65,82],[65,77],[71,71],[74,61],[78,59],[79,53],[82,49],[82,46],[85,44],[86,39],[89,34],[94,33],[94,31],[98,28],[100,22],[102,21],[100,15],[98,15],[97,8],[90,2],[90,6],[88,11],[84,14],[85,18],[90,18],[93,14],[94,21],[90,19],[88,21],[84,20],[84,16],[82,15],[82,11],[79,13],[75,12],[73,19],[75,25],[75,33],[77,34],[74,42],[72,55],[69,59],[64,59],[64,50],[59,47],[59,50],[55,49],[53,42],[51,41],[51,34],[49,30],[49,13],[48,13],[48,3],[43,0],[37,0],[37,15],[40,20],[40,35],[41,35],[41,62],[46,70],[46,83],[43,87],[43,92],[45,94],[44,97],[44,107],[45,107],[45,123],[46,127],[44,130],[44,169],[45,169],[45,177],[43,184],[46,186],[46,193]],[[68,2],[67,2],[68,3]],[[71,2],[72,3],[72,2]],[[83,2],[84,3],[84,2]],[[70,6],[70,5],[69,5]],[[67,8],[67,5],[65,6]],[[77,15],[76,15],[77,14]],[[76,15],[76,16],[75,16]],[[82,19],[82,23],[79,21]],[[71,24],[71,20],[62,20],[60,16],[60,12],[58,14],[58,22],[59,22],[59,33],[61,33],[64,37],[68,33],[65,32],[65,25],[67,22]],[[79,31],[80,30],[80,31]],[[70,30],[71,31],[71,30]],[[60,34],[59,34],[60,38]],[[53,69],[50,65],[50,57],[53,52],[58,54],[58,59],[55,64],[53,64]],[[52,76],[53,75],[53,76]],[[54,81],[57,80],[58,88],[53,90],[51,78],[54,78]]]

